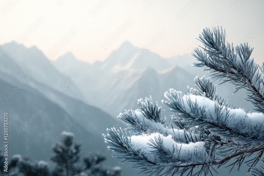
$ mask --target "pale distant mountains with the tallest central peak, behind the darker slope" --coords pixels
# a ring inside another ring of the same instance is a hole
[[[63,64],[63,60],[64,63],[67,61],[67,65]],[[164,93],[170,88],[185,93],[187,85],[195,87],[194,78],[197,75],[201,78],[208,73],[203,72],[201,68],[192,67],[192,62],[195,62],[195,57],[191,54],[162,58],[156,53],[145,52],[144,49],[126,41],[104,61],[91,64],[74,83],[88,104],[116,117],[124,110],[138,108],[137,100],[140,98],[144,99],[151,95],[153,100],[161,105]],[[81,61],[71,53],[66,53],[51,63],[68,76],[73,75],[82,65]],[[121,78],[118,75],[121,75]],[[215,83],[220,84],[220,82]],[[217,85],[216,93],[228,98],[228,103],[253,110],[251,104],[243,102],[245,94],[232,95],[233,92],[234,87],[231,84]],[[163,114],[170,115],[167,112]]]

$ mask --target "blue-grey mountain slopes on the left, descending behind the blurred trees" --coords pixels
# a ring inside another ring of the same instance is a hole
[[[24,56],[24,61],[18,55],[26,51],[11,51],[8,46],[12,44],[0,46],[0,110],[8,112],[9,117],[9,156],[21,154],[49,161],[52,146],[66,131],[76,136],[76,141],[82,144],[82,151],[100,152],[107,156],[108,166],[119,165],[119,160],[110,157],[102,137],[106,128],[120,124],[117,119],[83,102],[74,84],[67,93],[61,93],[57,86],[69,77],[56,70],[45,56],[38,62],[43,56],[38,49],[26,48],[39,55]],[[40,65],[29,64],[30,59]],[[3,121],[0,125],[4,125]],[[137,172],[136,169],[130,170],[131,175]]]

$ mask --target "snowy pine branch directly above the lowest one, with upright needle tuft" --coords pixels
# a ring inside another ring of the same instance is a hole
[[[175,141],[183,143],[200,141],[200,135],[196,134],[195,128],[182,130],[165,125],[167,119],[161,118],[161,107],[158,107],[157,102],[153,105],[151,97],[146,98],[145,102],[139,99],[138,104],[141,110],[129,110],[119,114],[118,118],[127,123],[128,128],[125,130],[143,134],[159,132],[164,136],[171,135]]]

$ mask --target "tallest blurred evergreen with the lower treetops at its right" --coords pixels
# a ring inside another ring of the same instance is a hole
[[[56,163],[53,176],[118,176],[121,172],[119,167],[103,168],[101,163],[106,158],[100,154],[86,156],[81,160],[81,145],[74,143],[72,133],[64,134],[62,141],[58,142],[51,158]],[[83,162],[82,162],[83,161]]]

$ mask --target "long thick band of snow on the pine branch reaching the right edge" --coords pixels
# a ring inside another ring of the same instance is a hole
[[[182,92],[174,89],[166,92],[165,97],[169,101],[164,104],[180,113],[186,113],[191,118],[226,127],[245,137],[264,139],[263,113],[247,113],[240,108],[228,108],[209,98],[193,94],[182,95]]]

